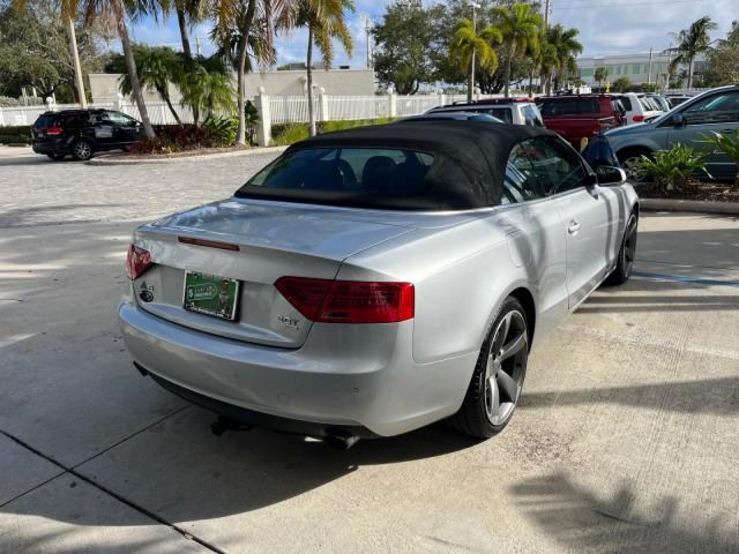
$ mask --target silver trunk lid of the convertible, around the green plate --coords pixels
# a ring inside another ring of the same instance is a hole
[[[346,210],[225,200],[137,229],[134,243],[154,264],[133,281],[143,309],[203,332],[297,348],[307,321],[274,287],[283,276],[335,278],[341,261],[413,229],[351,217]],[[239,282],[234,321],[185,310],[185,275]]]

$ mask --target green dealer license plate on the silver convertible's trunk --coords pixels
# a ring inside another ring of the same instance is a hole
[[[238,299],[239,281],[236,279],[185,272],[185,310],[233,321]]]

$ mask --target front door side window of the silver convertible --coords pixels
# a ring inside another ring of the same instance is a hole
[[[583,187],[588,174],[579,155],[555,137],[525,141],[526,154],[545,196]]]

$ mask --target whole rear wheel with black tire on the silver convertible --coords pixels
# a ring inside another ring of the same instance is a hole
[[[502,325],[506,320],[508,324],[503,330]],[[502,339],[501,333],[504,334]],[[506,345],[511,350],[515,347],[515,352],[508,358],[499,356],[500,362],[496,364],[494,356],[500,355]],[[449,419],[450,425],[457,431],[480,439],[487,439],[503,431],[505,425],[511,421],[520,398],[527,360],[526,312],[516,298],[508,296],[488,331],[462,407]],[[505,374],[505,379],[501,374]],[[497,391],[497,406],[500,408],[497,415],[493,414],[492,409],[496,405],[495,391],[492,389]]]

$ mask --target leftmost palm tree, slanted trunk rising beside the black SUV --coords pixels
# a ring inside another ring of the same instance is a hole
[[[71,13],[72,6],[75,6],[77,2],[78,0],[61,0],[63,12]],[[149,12],[156,13],[156,11],[146,0],[82,0],[82,8],[86,21],[92,22],[95,19],[111,21],[118,31],[120,46],[123,48],[123,58],[126,60],[126,71],[129,74],[131,94],[139,110],[143,133],[146,138],[153,139],[156,135],[151,127],[149,112],[146,110],[141,83],[136,72],[136,61],[131,38],[129,37],[129,29],[126,25],[126,13],[141,16]]]

